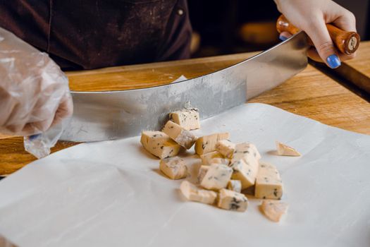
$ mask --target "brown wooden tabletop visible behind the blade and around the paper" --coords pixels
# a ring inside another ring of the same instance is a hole
[[[144,88],[171,83],[181,75],[187,78],[202,76],[252,55],[234,54],[67,74],[71,90]],[[249,102],[271,104],[331,126],[370,134],[370,104],[312,66]],[[52,151],[56,152],[75,144],[58,142]],[[3,136],[0,140],[0,174],[11,174],[33,160],[35,158],[23,150],[23,138]]]

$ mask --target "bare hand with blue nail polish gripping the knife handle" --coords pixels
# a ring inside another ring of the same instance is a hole
[[[324,61],[330,68],[338,68],[340,61],[354,58],[355,54],[338,54],[326,28],[331,23],[345,31],[356,32],[353,13],[331,0],[274,0],[278,11],[300,30],[309,35],[314,47],[308,56],[315,61]],[[289,34],[282,33],[284,37]]]

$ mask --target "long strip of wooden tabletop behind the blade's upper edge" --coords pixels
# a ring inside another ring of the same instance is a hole
[[[201,59],[167,61],[154,64],[139,64],[102,68],[94,71],[67,72],[70,90],[111,91],[147,88],[165,85],[180,76],[195,78],[218,71],[243,61],[258,52],[226,56],[213,56]]]

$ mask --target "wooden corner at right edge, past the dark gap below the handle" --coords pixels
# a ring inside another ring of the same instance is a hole
[[[361,42],[357,56],[344,61],[335,72],[370,93],[370,41]]]

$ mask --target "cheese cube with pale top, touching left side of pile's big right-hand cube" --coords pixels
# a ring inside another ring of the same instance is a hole
[[[231,178],[240,180],[242,183],[242,190],[254,186],[259,169],[259,162],[257,159],[247,155],[244,159],[239,159],[236,162],[230,163],[229,167],[233,168],[233,175]]]

